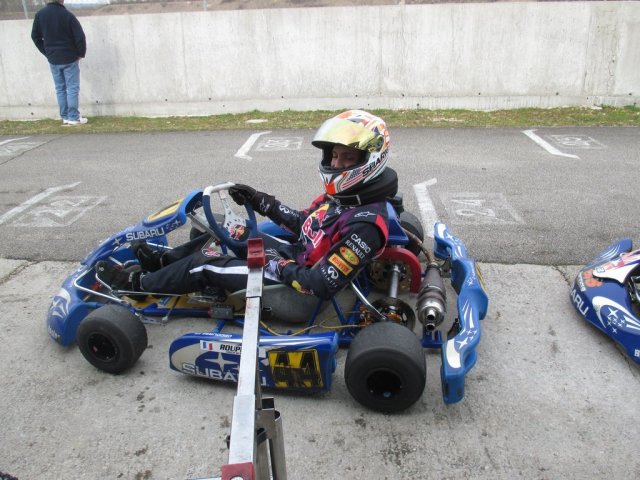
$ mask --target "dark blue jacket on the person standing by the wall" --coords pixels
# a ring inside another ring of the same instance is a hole
[[[31,39],[53,65],[66,65],[84,58],[87,42],[78,19],[54,1],[36,13]]]

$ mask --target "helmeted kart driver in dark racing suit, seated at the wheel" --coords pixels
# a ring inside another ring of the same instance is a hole
[[[382,252],[388,238],[386,200],[398,189],[387,167],[389,133],[384,121],[362,110],[343,112],[322,124],[312,140],[322,151],[319,165],[325,193],[305,210],[236,184],[229,194],[298,236],[285,243],[264,233],[265,285],[284,283],[329,299]],[[205,289],[246,288],[247,262],[224,255],[208,234],[164,253],[144,241],[132,245],[143,271],[128,273],[106,261],[97,278],[120,290],[183,294]]]

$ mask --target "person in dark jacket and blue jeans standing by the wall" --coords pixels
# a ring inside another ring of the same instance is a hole
[[[64,0],[52,0],[36,13],[31,39],[49,61],[62,124],[87,123],[78,110],[80,59],[87,52],[87,42],[80,22],[65,8]]]

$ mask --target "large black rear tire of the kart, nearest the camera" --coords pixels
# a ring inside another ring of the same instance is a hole
[[[361,330],[351,342],[344,369],[351,396],[371,410],[409,408],[424,391],[427,366],[418,337],[393,322]]]

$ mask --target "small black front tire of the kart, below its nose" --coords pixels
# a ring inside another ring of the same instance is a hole
[[[76,341],[84,358],[107,373],[131,368],[147,348],[147,330],[136,315],[119,305],[105,305],[85,317]]]

